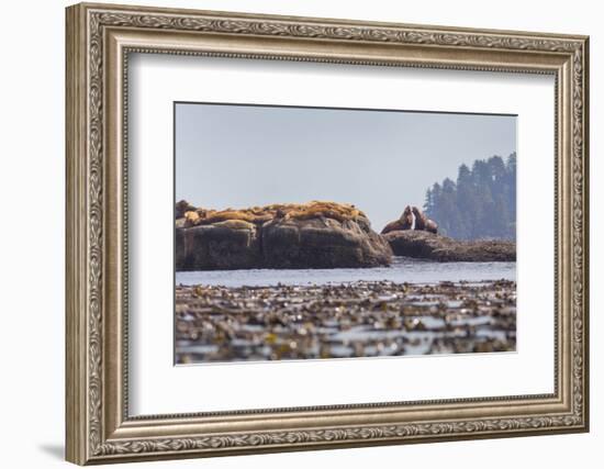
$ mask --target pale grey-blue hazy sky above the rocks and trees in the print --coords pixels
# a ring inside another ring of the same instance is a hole
[[[177,103],[176,200],[354,203],[379,232],[462,163],[515,149],[508,115]]]

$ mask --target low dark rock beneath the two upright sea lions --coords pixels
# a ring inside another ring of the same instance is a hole
[[[516,244],[510,241],[458,241],[427,231],[393,231],[383,235],[395,256],[441,263],[514,261]]]

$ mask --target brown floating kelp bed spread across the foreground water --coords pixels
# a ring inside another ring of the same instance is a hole
[[[176,288],[178,364],[511,351],[516,283]]]

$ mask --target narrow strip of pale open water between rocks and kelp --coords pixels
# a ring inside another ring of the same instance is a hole
[[[369,269],[242,269],[176,272],[176,284],[258,287],[281,284],[328,284],[358,280],[390,280],[398,283],[440,281],[516,280],[516,263],[435,263],[395,257],[390,267]]]

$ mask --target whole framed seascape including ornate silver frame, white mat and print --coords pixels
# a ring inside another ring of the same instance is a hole
[[[589,428],[588,37],[67,9],[67,459]]]

